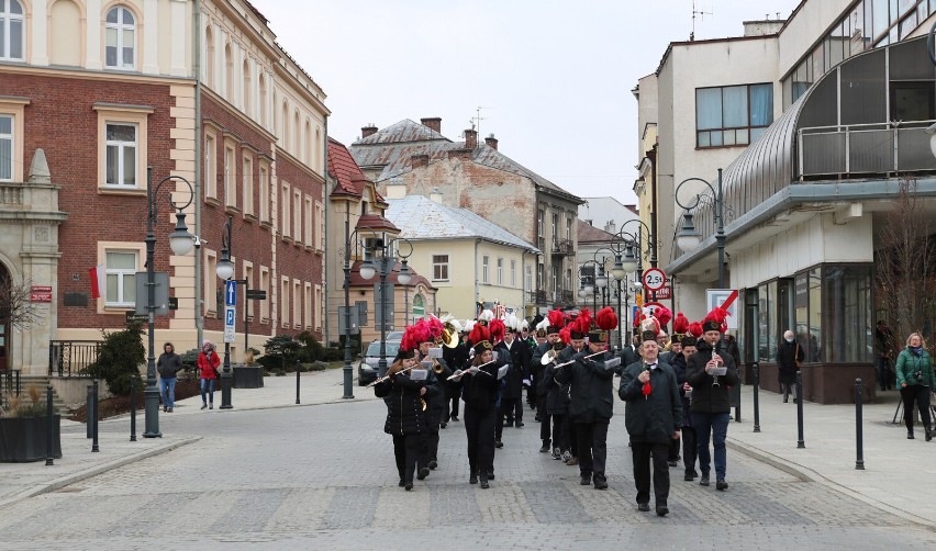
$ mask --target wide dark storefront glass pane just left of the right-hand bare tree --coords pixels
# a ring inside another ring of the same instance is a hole
[[[870,362],[871,267],[827,266],[823,273],[826,331],[822,342],[831,363]]]

